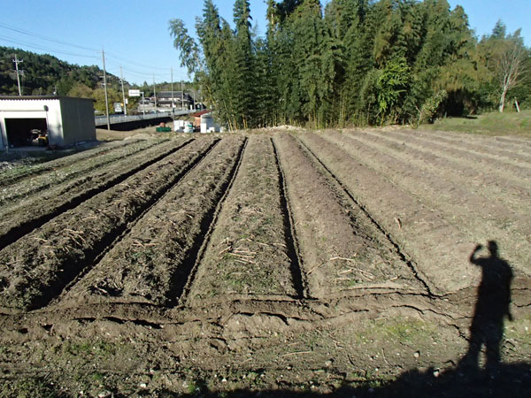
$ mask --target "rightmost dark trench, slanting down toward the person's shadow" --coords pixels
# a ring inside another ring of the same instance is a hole
[[[430,297],[437,297],[438,295],[435,295],[433,293],[433,287],[432,283],[427,279],[425,275],[420,275],[421,272],[418,270],[417,266],[415,265],[414,261],[412,260],[412,257],[409,256],[407,253],[404,252],[404,250],[400,247],[400,245],[393,239],[391,233],[385,230],[383,226],[371,215],[371,213],[366,209],[366,207],[359,203],[358,200],[350,193],[349,188],[345,187],[345,185],[342,183],[341,180],[335,175],[334,172],[332,172],[327,165],[325,165],[319,157],[310,149],[302,140],[300,140],[298,137],[296,137],[297,142],[300,143],[300,145],[308,151],[309,154],[312,155],[312,157],[323,167],[323,169],[328,173],[329,177],[331,177],[333,180],[337,182],[337,184],[342,188],[344,193],[350,198],[350,200],[365,214],[366,217],[371,220],[373,223],[373,226],[375,226],[389,241],[389,243],[392,245],[392,247],[395,249],[396,254],[400,257],[402,261],[404,261],[405,264],[412,270],[413,276],[415,279],[419,280],[419,282],[424,286],[427,290],[427,295]]]

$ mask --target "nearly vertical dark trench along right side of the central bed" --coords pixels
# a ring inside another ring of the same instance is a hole
[[[270,139],[273,145],[273,154],[277,170],[279,173],[279,188],[281,196],[281,209],[283,213],[284,224],[284,236],[286,239],[286,246],[288,247],[288,256],[291,263],[291,277],[293,279],[293,285],[299,298],[309,297],[308,281],[306,280],[305,273],[303,272],[303,257],[301,256],[299,243],[296,238],[295,222],[293,219],[293,212],[291,210],[291,204],[289,203],[288,189],[286,186],[286,178],[284,176],[284,170],[281,165],[281,158],[279,157],[277,146],[274,143],[273,138]]]

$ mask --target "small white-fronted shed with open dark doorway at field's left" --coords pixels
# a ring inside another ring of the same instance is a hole
[[[48,132],[58,148],[96,141],[94,100],[68,96],[0,96],[0,145],[31,144],[31,131]]]

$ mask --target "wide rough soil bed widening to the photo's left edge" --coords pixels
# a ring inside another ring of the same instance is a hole
[[[50,302],[212,145],[196,140],[0,251],[0,305],[27,310]]]

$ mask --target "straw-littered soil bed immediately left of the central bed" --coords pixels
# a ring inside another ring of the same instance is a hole
[[[242,151],[241,138],[219,142],[168,191],[60,306],[85,302],[177,302]]]

